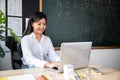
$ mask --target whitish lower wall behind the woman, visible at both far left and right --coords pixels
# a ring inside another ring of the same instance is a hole
[[[56,51],[58,54],[60,51]],[[0,70],[12,69],[11,53],[6,52],[4,58],[0,58]],[[91,51],[90,64],[96,64],[120,70],[120,49],[95,49]]]

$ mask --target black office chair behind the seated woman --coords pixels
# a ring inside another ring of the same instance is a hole
[[[6,46],[11,50],[11,62],[13,69],[22,68],[22,50],[21,44],[17,44],[13,37],[8,36],[6,41]]]

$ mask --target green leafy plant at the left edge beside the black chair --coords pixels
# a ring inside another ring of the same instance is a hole
[[[12,37],[16,43],[20,43],[20,38],[17,36],[14,31],[11,28],[8,28],[5,26],[6,23],[6,17],[4,13],[0,10],[0,41],[7,41],[9,37]],[[3,33],[6,32],[6,30],[10,31],[10,36],[5,36]],[[2,48],[2,45],[0,44],[0,57],[4,57],[5,52]]]

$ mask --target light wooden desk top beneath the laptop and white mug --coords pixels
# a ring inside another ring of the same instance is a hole
[[[88,68],[79,69],[75,71],[80,71],[82,74],[86,75],[89,78],[88,80],[120,80],[120,71],[101,67],[101,66],[95,66],[95,65],[94,67],[102,71],[103,73],[102,76],[99,77],[91,76],[88,71]],[[63,73],[56,73],[50,69],[40,69],[40,68],[0,71],[0,77],[8,77],[8,76],[22,75],[22,74],[32,74],[34,75],[34,77],[37,77],[44,73],[49,75],[52,78],[52,80],[64,80]]]

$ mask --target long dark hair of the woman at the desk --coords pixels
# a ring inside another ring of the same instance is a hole
[[[46,17],[46,15],[43,12],[39,12],[39,11],[34,12],[30,16],[30,18],[29,18],[27,29],[24,31],[23,36],[25,36],[25,35],[30,34],[31,32],[33,32],[33,27],[31,25],[32,22],[37,22],[37,21],[39,21],[42,18],[45,18],[46,19],[46,23],[47,23],[47,17]]]

